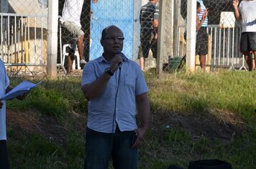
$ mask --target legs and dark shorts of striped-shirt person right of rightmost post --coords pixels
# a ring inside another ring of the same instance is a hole
[[[196,36],[196,54],[199,55],[201,69],[206,69],[206,54],[208,54],[208,34],[206,27],[201,27]]]

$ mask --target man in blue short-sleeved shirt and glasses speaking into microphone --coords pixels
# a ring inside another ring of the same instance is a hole
[[[84,168],[108,168],[110,158],[114,168],[137,168],[138,148],[150,123],[149,90],[139,65],[121,52],[121,29],[106,27],[101,46],[101,57],[83,68],[82,90],[88,100]]]

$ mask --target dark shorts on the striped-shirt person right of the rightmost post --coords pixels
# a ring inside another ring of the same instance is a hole
[[[208,33],[206,27],[201,27],[196,35],[196,54],[208,54]]]

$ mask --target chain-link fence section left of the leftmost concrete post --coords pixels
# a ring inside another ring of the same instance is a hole
[[[47,9],[35,0],[1,0],[1,59],[9,72],[46,72]]]

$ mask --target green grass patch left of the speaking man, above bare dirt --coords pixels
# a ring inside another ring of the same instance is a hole
[[[81,92],[79,78],[73,79],[59,78],[57,80],[45,79],[39,87],[32,90],[27,95],[26,100],[12,100],[9,107],[23,110],[37,110],[44,115],[56,117],[58,119],[66,118],[68,112],[87,111],[87,102]],[[21,79],[12,79],[12,85],[15,86]],[[38,79],[33,81],[38,82]],[[32,82],[33,82],[32,81]]]

